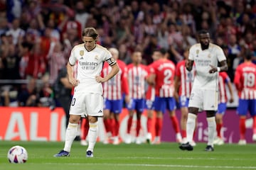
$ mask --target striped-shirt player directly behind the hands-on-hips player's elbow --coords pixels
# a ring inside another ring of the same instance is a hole
[[[123,99],[122,94],[125,94],[124,100],[129,103],[129,87],[127,81],[127,67],[124,62],[118,60],[119,52],[116,48],[110,48],[110,53],[114,60],[119,65],[119,72],[109,81],[103,84],[104,97],[104,125],[106,130],[106,138],[104,143],[110,142],[112,136],[113,145],[119,144],[119,114],[122,113]],[[102,69],[102,76],[109,74],[112,67],[105,63]]]

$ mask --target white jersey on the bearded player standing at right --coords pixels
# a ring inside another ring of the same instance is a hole
[[[201,44],[193,45],[189,50],[189,60],[193,60],[196,67],[196,76],[193,81],[193,89],[218,88],[218,72],[209,73],[210,65],[218,66],[218,62],[226,60],[223,50],[210,43],[208,49],[202,50]]]

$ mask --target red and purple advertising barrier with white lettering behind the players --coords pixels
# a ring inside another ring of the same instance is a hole
[[[31,108],[31,107],[0,107],[1,126],[0,140],[23,140],[23,141],[63,141],[65,140],[65,113],[63,108]],[[176,111],[178,120],[181,112]],[[120,115],[119,135],[121,140],[125,140],[127,132],[128,111],[123,109]],[[226,111],[222,134],[226,143],[236,143],[239,140],[239,118],[235,110]],[[100,134],[99,141],[105,137],[105,128],[102,118],[99,120]],[[154,123],[154,119],[153,119]],[[252,118],[246,120],[246,140],[252,142]],[[132,123],[131,135],[135,139],[136,116]],[[146,140],[146,111],[142,115],[142,129],[140,131],[141,140]],[[153,132],[154,136],[154,132]],[[196,142],[206,142],[208,137],[206,114],[198,114],[198,125],[196,129]],[[164,114],[164,124],[161,133],[161,141],[175,142],[176,135],[171,125],[168,114]]]

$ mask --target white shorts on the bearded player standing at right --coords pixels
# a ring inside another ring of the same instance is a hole
[[[218,92],[215,89],[192,89],[188,107],[201,108],[203,111],[217,111]]]

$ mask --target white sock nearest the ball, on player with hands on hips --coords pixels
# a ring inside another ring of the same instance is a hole
[[[75,140],[75,137],[78,132],[78,123],[68,123],[68,128],[65,132],[65,146],[64,150],[70,152],[71,145]]]

